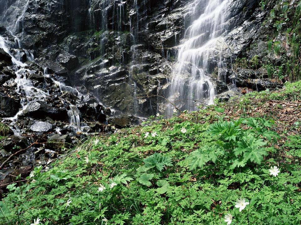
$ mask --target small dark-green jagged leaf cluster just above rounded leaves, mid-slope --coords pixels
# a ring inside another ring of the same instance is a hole
[[[160,172],[166,166],[172,166],[172,158],[161,155],[161,153],[154,153],[153,155],[143,160],[146,168],[156,168]]]

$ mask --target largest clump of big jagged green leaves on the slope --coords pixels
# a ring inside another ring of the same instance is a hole
[[[251,129],[241,129],[244,122]],[[265,119],[248,118],[236,121],[218,121],[209,126],[208,133],[215,137],[212,146],[204,146],[190,153],[186,162],[190,170],[204,167],[209,161],[215,164],[227,162],[231,168],[245,167],[251,163],[261,164],[267,151],[263,148],[267,143],[280,138],[271,129],[272,121]],[[265,138],[265,139],[262,139]]]

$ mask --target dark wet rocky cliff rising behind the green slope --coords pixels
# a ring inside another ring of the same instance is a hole
[[[117,115],[166,113],[179,49],[208,2],[0,0],[0,117],[3,136],[17,135],[2,140],[3,157],[35,142],[20,159],[45,162],[76,135],[138,123]],[[226,3],[202,72],[216,98],[300,79],[301,3]]]

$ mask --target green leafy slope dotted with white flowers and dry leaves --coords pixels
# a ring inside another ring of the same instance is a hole
[[[9,185],[1,224],[300,224],[300,93],[287,84],[88,138]]]

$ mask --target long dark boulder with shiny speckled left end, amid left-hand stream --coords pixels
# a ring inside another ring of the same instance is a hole
[[[30,102],[24,114],[34,118],[50,117],[53,120],[66,121],[67,110],[66,108],[55,108],[47,105],[43,101]]]

